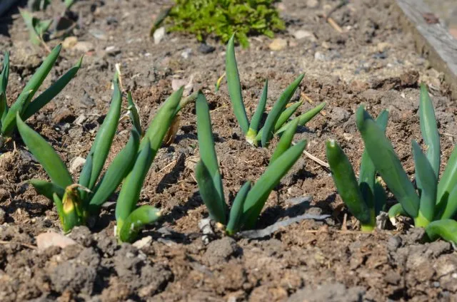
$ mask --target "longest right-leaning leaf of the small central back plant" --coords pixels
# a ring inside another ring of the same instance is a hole
[[[263,125],[263,133],[261,138],[263,147],[266,147],[268,145],[268,142],[271,140],[271,137],[273,136],[274,127],[276,125],[276,122],[278,121],[279,116],[283,112],[284,108],[286,108],[288,101],[291,100],[293,94],[297,90],[298,85],[300,85],[301,80],[303,80],[304,76],[304,74],[299,75],[298,78],[296,78],[296,80],[294,80],[291,83],[291,85],[289,85],[288,88],[284,90],[279,99],[273,105],[273,108],[271,109],[270,113],[268,113],[265,125]]]

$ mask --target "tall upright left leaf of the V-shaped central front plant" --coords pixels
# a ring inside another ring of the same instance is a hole
[[[200,93],[196,100],[196,115],[197,115],[197,135],[199,138],[199,152],[201,165],[198,167],[199,175],[201,175],[201,183],[208,182],[206,177],[210,177],[212,187],[206,184],[205,188],[214,189],[216,192],[213,196],[206,198],[211,199],[209,210],[211,216],[221,224],[226,224],[226,203],[224,200],[224,188],[222,186],[221,174],[219,173],[219,164],[217,160],[216,150],[214,149],[213,131],[211,129],[211,117],[209,115],[208,103],[205,96]],[[197,171],[196,171],[197,172]],[[205,192],[203,192],[205,194]],[[205,197],[202,195],[202,198]],[[205,201],[205,200],[204,200]]]

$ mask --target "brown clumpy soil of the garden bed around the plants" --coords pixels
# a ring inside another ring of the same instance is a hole
[[[79,46],[61,52],[43,87],[85,53],[83,67],[28,123],[70,165],[87,155],[103,121],[116,63],[143,125],[172,92],[173,80],[191,80],[193,89],[203,90],[209,100],[226,199],[233,200],[246,179],[255,181],[265,170],[275,144],[268,149],[248,145],[226,85],[214,92],[224,73],[224,46],[218,41],[209,38],[206,43],[215,50],[203,53],[209,48],[192,36],[167,33],[158,44],[147,38],[154,16],[169,3],[78,1],[72,11],[79,15],[81,28],[73,33]],[[271,51],[271,40],[265,37],[252,37],[248,49],[236,48],[248,115],[265,78],[271,105],[304,72],[293,99],[304,93],[314,103],[305,102],[301,112],[327,102],[323,114],[296,135],[296,140],[308,140],[309,153],[325,161],[325,142],[334,138],[357,170],[363,142],[353,113],[360,104],[373,115],[388,108],[387,135],[413,177],[411,140],[422,142],[417,110],[418,83],[423,81],[431,90],[446,163],[456,143],[457,106],[443,75],[415,53],[411,37],[398,26],[393,2],[354,0],[338,9],[331,16],[343,33],[323,18],[336,4],[285,0],[278,8],[287,31],[276,35],[287,41],[285,48]],[[51,9],[44,14],[56,13]],[[0,27],[0,46],[11,53],[8,94],[13,100],[46,51],[31,46],[17,11]],[[298,40],[293,36],[298,30],[312,36]],[[305,213],[330,218],[303,220],[261,239],[216,233],[207,240],[199,222],[208,214],[193,177],[199,155],[194,113],[192,106],[184,109],[176,140],[161,148],[141,192],[140,203],[160,207],[164,219],[133,245],[119,245],[114,238],[114,196],[92,229],[78,227],[68,235],[76,244],[37,249],[37,235],[60,232],[59,217],[52,202],[26,183],[46,179],[44,170],[20,137],[6,144],[0,157],[0,300],[457,301],[457,254],[451,244],[425,242],[423,230],[408,227],[407,221],[400,229],[361,233],[336,194],[329,171],[304,156],[272,192],[257,227]],[[128,121],[121,122],[110,160],[126,142],[130,127]],[[78,174],[74,171],[75,178]],[[297,197],[311,197],[311,202],[294,204]]]

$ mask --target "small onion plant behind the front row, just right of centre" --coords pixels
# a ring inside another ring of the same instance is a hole
[[[268,113],[263,127],[258,130],[261,124],[263,111],[266,107],[268,80],[265,80],[260,101],[258,102],[256,111],[251,118],[251,122],[249,122],[248,116],[246,115],[246,109],[244,108],[243,95],[241,93],[241,82],[238,74],[238,66],[236,65],[234,38],[234,35],[231,36],[229,43],[227,44],[226,51],[226,77],[227,85],[229,86],[230,100],[233,106],[233,113],[240,124],[241,130],[244,135],[246,135],[246,140],[251,145],[257,146],[258,142],[261,142],[261,145],[266,147],[273,135],[280,134],[291,125],[291,121],[288,121],[288,119],[291,118],[293,113],[295,113],[298,107],[302,104],[300,101],[287,107],[289,100],[291,100],[293,94],[298,88],[298,85],[300,85],[301,80],[303,80],[304,74],[299,75],[298,78],[296,78],[296,80],[294,80],[291,85],[284,90],[276,103],[273,105],[270,113]],[[294,120],[298,120],[298,125],[303,126],[316,114],[318,114],[325,107],[325,105],[326,103],[321,103],[308,112],[294,118]]]

